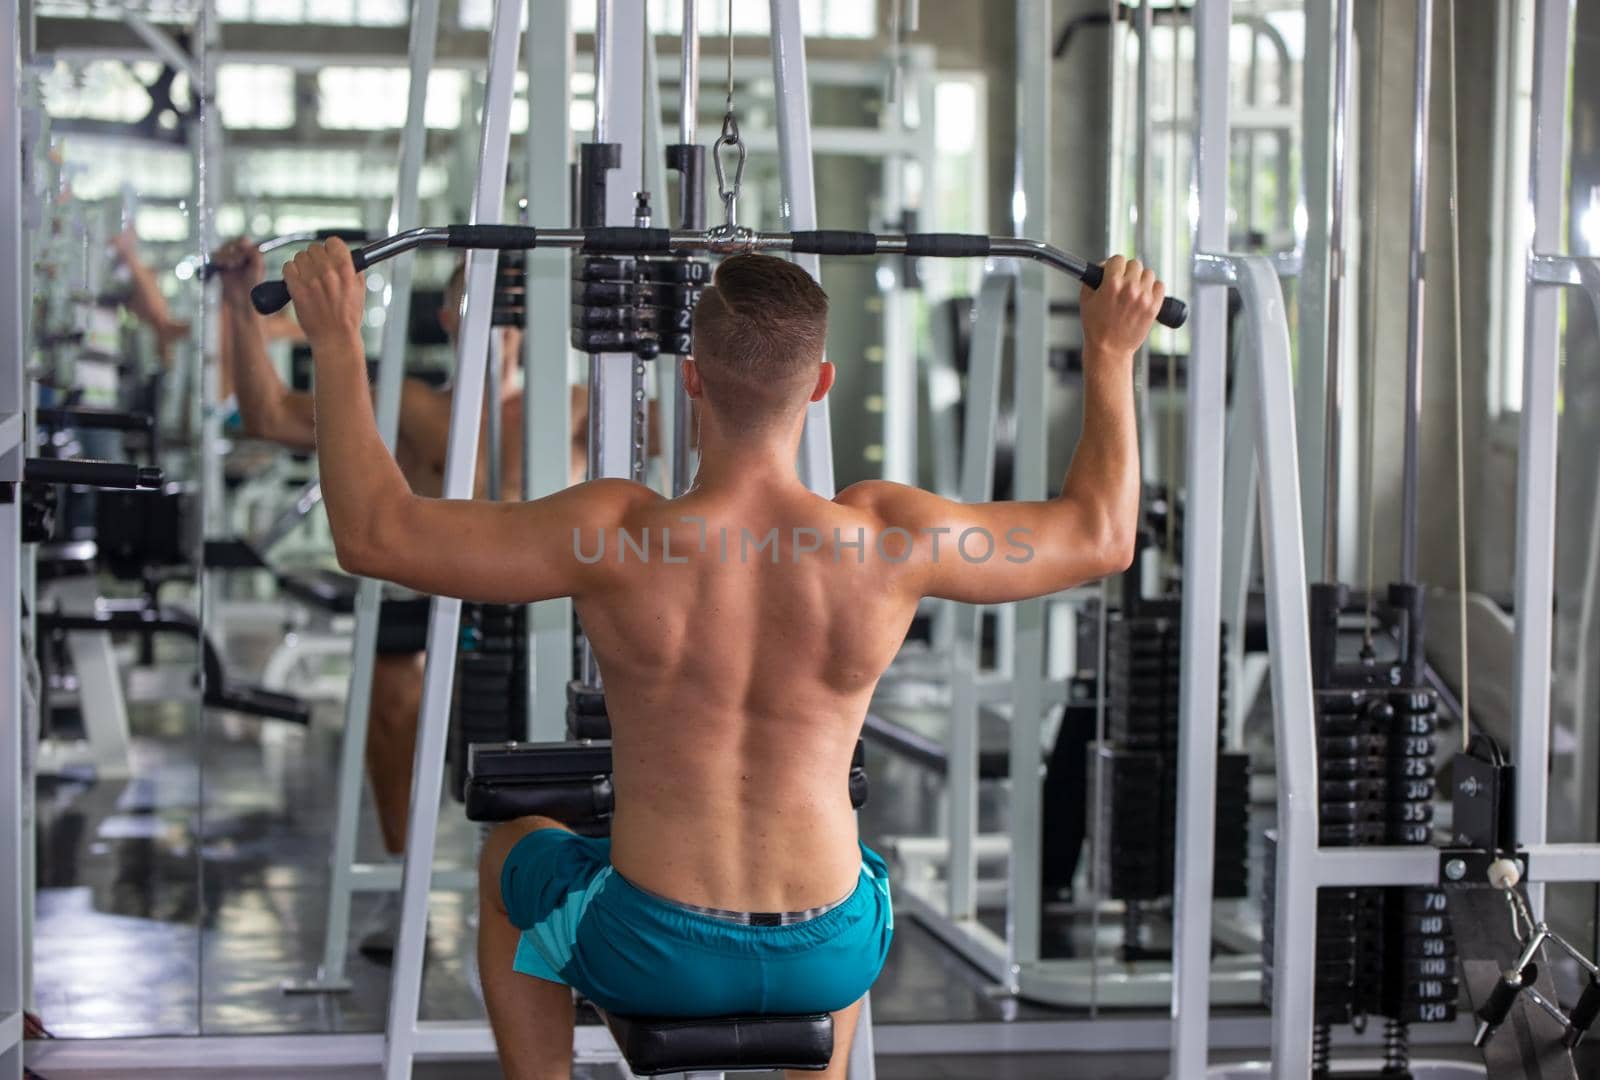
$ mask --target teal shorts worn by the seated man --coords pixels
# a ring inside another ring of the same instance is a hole
[[[611,842],[530,832],[501,869],[522,930],[514,968],[563,982],[618,1016],[802,1016],[859,1000],[894,936],[883,859],[861,848],[861,878],[803,922],[746,925],[675,904],[611,866]]]

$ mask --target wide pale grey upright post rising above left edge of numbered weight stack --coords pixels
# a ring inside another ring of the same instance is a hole
[[[1342,14],[1342,13],[1341,13]],[[1306,61],[1301,91],[1301,206],[1306,227],[1299,237],[1304,261],[1299,274],[1299,352],[1294,421],[1301,445],[1301,491],[1306,510],[1306,558],[1323,552],[1325,496],[1323,424],[1326,422],[1328,378],[1328,288],[1330,288],[1330,216],[1331,216],[1331,150],[1336,109],[1347,106],[1333,86],[1333,58],[1349,53],[1352,29],[1349,21],[1334,18],[1334,0],[1306,0]]]

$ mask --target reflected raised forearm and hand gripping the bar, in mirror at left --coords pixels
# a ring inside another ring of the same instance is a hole
[[[291,390],[278,378],[267,355],[261,315],[250,304],[250,290],[261,280],[261,253],[250,240],[235,240],[214,261],[222,274],[222,363],[232,365],[245,434],[290,450],[315,450],[312,395]]]

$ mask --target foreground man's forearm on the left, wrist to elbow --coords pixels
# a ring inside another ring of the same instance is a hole
[[[314,339],[317,365],[317,464],[334,549],[346,566],[365,563],[386,515],[411,496],[400,467],[378,437],[366,355],[357,331]]]

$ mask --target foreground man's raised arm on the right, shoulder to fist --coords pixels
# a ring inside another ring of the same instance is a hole
[[[1099,290],[1083,290],[1083,435],[1056,498],[963,504],[883,482],[840,494],[912,538],[904,565],[920,595],[1006,603],[1128,568],[1139,518],[1133,357],[1163,294],[1120,256]]]

